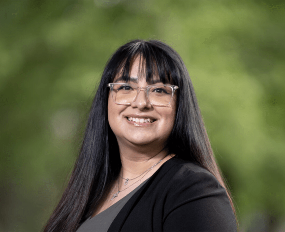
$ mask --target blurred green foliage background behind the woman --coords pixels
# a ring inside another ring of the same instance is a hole
[[[188,67],[240,230],[285,231],[285,3],[0,1],[0,231],[39,231],[104,65],[160,39]]]

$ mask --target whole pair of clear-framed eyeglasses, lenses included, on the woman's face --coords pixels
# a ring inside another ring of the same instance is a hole
[[[170,85],[150,85],[147,87],[138,87],[127,83],[109,83],[112,97],[115,103],[120,105],[130,105],[133,103],[141,90],[144,90],[148,101],[153,106],[168,105],[178,86]]]

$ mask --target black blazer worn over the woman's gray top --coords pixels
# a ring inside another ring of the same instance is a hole
[[[176,157],[130,198],[108,232],[236,232],[225,189],[207,170]]]

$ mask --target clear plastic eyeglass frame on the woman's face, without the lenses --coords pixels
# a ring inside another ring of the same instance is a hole
[[[113,87],[114,87],[115,85],[117,85],[117,84],[119,84],[119,85],[131,86],[131,87],[135,87],[135,88],[136,88],[137,94],[136,94],[136,96],[135,96],[135,98],[134,98],[134,100],[133,100],[132,102],[130,102],[130,103],[118,103],[118,102],[115,101],[114,96],[113,96]],[[110,87],[111,94],[112,94],[112,98],[113,98],[114,102],[115,102],[116,104],[118,104],[118,105],[131,105],[131,104],[136,100],[137,95],[139,94],[139,92],[140,92],[141,90],[144,90],[144,91],[145,91],[145,94],[146,94],[146,96],[147,96],[147,99],[148,99],[149,103],[150,103],[152,106],[166,106],[166,105],[169,105],[169,104],[171,103],[172,99],[173,99],[173,95],[174,95],[175,90],[179,88],[178,86],[166,85],[166,84],[164,84],[164,85],[149,85],[149,86],[146,86],[146,87],[139,87],[139,86],[134,85],[134,84],[118,83],[118,82],[116,82],[116,83],[109,83],[107,86]],[[149,99],[149,89],[150,89],[151,87],[159,87],[159,86],[171,87],[171,89],[172,89],[172,95],[171,95],[171,99],[170,99],[169,103],[163,104],[163,105],[157,105],[157,104],[151,103],[151,101],[150,101],[150,99]]]

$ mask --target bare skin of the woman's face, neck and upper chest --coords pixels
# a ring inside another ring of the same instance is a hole
[[[135,84],[139,87],[150,85],[146,82],[145,77],[140,75],[143,73],[140,71],[139,58],[136,58],[130,72],[130,77],[136,80],[129,82],[129,84]],[[114,82],[118,78],[116,77]],[[157,78],[154,77],[154,79]],[[110,192],[106,195],[106,199],[100,204],[93,216],[125,197],[154,174],[164,162],[174,156],[174,154],[168,154],[165,146],[175,121],[176,98],[176,94],[174,94],[170,104],[166,106],[152,106],[147,99],[146,93],[141,90],[131,105],[119,105],[114,102],[111,92],[109,93],[108,120],[119,145],[122,162],[121,176],[129,179],[135,178],[161,159],[162,161],[155,168],[147,172],[147,174],[142,175],[142,178],[139,177],[129,181],[127,186],[124,185],[125,180],[118,177],[112,184]],[[129,123],[126,116],[130,115],[150,116],[155,118],[156,121],[145,123],[145,125],[141,123]],[[118,189],[120,191],[125,190],[120,192],[118,197],[114,198],[113,201],[110,201],[113,194],[118,192]]]

